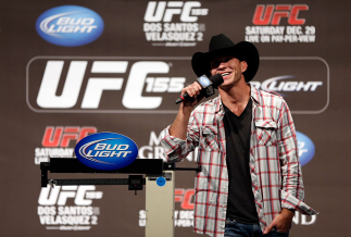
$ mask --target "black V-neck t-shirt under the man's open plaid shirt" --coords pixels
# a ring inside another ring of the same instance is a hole
[[[224,105],[224,104],[223,104]],[[250,136],[252,101],[249,100],[240,116],[224,105],[226,161],[229,176],[227,217],[243,224],[258,224],[250,176]]]

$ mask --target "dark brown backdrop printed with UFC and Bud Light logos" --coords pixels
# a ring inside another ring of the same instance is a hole
[[[190,59],[224,33],[259,49],[252,84],[284,96],[298,130],[306,203],[291,236],[347,236],[350,13],[330,1],[1,1],[0,236],[142,236],[145,191],[40,187],[40,162],[77,140],[123,134],[164,159],[160,133],[196,75]],[[178,166],[192,167],[190,154]],[[61,174],[50,177],[105,177]],[[126,177],[113,175],[109,177]],[[192,233],[193,172],[176,173],[176,236]]]

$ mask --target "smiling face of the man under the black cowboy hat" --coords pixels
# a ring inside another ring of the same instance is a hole
[[[242,73],[247,67],[247,62],[228,55],[216,57],[210,63],[211,75],[221,74],[223,76],[224,83],[220,86],[222,88],[233,87],[243,77]]]

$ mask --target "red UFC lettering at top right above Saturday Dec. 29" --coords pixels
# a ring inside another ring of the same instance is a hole
[[[280,18],[288,18],[290,25],[303,25],[304,18],[298,18],[300,11],[308,11],[306,4],[259,4],[253,14],[254,25],[279,25]]]

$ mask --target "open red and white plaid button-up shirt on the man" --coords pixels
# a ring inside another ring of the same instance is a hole
[[[251,86],[252,122],[250,174],[252,192],[262,230],[281,208],[302,214],[316,214],[304,201],[296,130],[285,100]],[[181,161],[199,147],[196,177],[195,232],[224,236],[228,199],[228,170],[224,109],[221,97],[197,107],[190,116],[187,140],[162,132],[162,146],[168,161]]]

